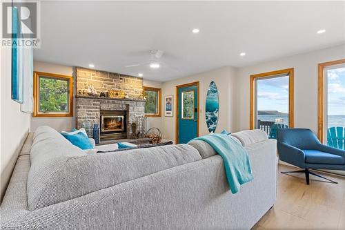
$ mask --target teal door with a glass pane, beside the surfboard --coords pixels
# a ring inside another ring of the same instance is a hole
[[[197,108],[197,86],[186,86],[177,90],[178,102],[178,142],[185,144],[197,137],[198,108]]]

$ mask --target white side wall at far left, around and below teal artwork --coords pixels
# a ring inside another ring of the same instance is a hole
[[[1,48],[1,189],[7,187],[18,153],[30,131],[30,113],[22,113],[21,105],[11,99],[11,49]]]

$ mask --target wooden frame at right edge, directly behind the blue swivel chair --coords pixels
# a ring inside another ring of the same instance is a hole
[[[326,70],[330,70],[333,68],[337,68],[338,66],[342,66],[345,64],[345,59],[340,59],[336,61],[327,61],[324,63],[318,64],[317,68],[317,138],[319,138],[319,141],[322,143],[327,143],[327,117],[328,117],[328,111],[327,111],[327,92],[325,90],[328,89],[328,81],[325,76]]]

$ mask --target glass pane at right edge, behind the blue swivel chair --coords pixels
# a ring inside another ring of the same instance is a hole
[[[345,149],[345,66],[327,70],[327,144]]]

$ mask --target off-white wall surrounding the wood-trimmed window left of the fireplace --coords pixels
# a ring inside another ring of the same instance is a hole
[[[34,61],[34,71],[73,76],[74,82],[76,82],[74,70],[75,68],[72,66],[59,66],[42,61]],[[75,93],[74,86],[73,94],[75,95]],[[43,125],[55,128],[57,131],[70,131],[72,128],[75,128],[75,97],[73,100],[73,117],[31,117],[32,132],[37,127]]]

